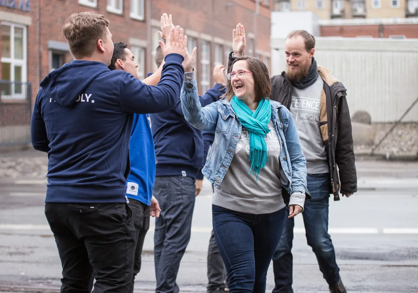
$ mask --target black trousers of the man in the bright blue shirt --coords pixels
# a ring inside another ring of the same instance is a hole
[[[150,229],[150,206],[145,205],[143,202],[138,200],[129,199],[129,206],[133,212],[133,222],[135,224],[136,231],[136,249],[135,249],[135,259],[133,264],[133,278],[132,283],[129,288],[129,293],[133,293],[133,287],[135,283],[135,276],[141,270],[142,264],[142,249],[144,247],[145,235],[147,235],[148,230]]]

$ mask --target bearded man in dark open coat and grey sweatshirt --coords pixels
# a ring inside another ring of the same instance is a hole
[[[346,197],[357,192],[351,119],[346,88],[327,68],[316,64],[314,47],[315,38],[307,31],[289,33],[284,50],[287,70],[271,78],[270,98],[292,112],[306,157],[312,198],[305,203],[302,215],[308,245],[316,255],[330,292],[345,293],[328,234],[328,215],[330,194],[334,194],[334,200],[340,200],[339,192]],[[230,62],[242,53],[243,50],[234,51]],[[294,220],[286,219],[273,256],[273,293],[293,293],[293,227]]]

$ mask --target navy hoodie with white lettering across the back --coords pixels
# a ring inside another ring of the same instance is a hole
[[[133,113],[176,106],[183,60],[178,54],[166,56],[158,86],[125,71],[110,71],[104,63],[81,60],[43,79],[31,139],[35,149],[48,152],[45,202],[126,202]]]

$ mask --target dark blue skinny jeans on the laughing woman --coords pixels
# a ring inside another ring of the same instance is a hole
[[[212,205],[213,232],[230,293],[265,293],[267,270],[283,231],[285,208],[264,215]]]

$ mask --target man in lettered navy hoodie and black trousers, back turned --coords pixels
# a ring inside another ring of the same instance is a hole
[[[180,96],[187,37],[171,30],[161,42],[158,86],[110,71],[109,21],[75,13],[63,32],[74,59],[40,83],[31,120],[33,147],[48,153],[45,215],[62,263],[61,293],[128,292],[135,226],[127,205],[133,113],[173,109]]]

